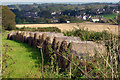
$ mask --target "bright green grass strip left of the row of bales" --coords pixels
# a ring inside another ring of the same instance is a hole
[[[2,36],[3,78],[40,78],[39,50],[21,42],[7,40],[6,33]]]

